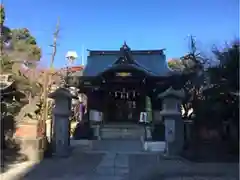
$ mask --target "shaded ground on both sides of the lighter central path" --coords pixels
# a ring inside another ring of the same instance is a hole
[[[157,154],[123,154],[128,156],[129,173],[122,180],[218,179],[237,180],[237,163],[195,163],[182,158]],[[96,170],[104,159],[102,153],[75,152],[68,158],[48,158],[31,167],[20,179],[108,180]],[[109,167],[109,166],[107,166]],[[106,167],[106,168],[107,168]],[[112,176],[111,176],[112,177]],[[109,180],[115,180],[113,177]],[[194,177],[194,178],[193,178]]]

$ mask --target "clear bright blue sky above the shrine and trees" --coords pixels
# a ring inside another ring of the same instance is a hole
[[[49,45],[60,18],[55,67],[65,66],[68,50],[81,56],[82,47],[119,49],[125,40],[132,49],[166,48],[167,58],[174,58],[188,52],[190,34],[204,52],[239,36],[238,0],[2,1],[6,25],[32,32],[43,49],[43,64],[50,61]]]

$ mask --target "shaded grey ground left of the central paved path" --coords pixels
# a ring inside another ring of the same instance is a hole
[[[22,179],[53,179],[66,178],[73,179],[86,174],[92,174],[95,167],[100,163],[103,154],[85,154],[79,153],[67,158],[47,158],[40,164],[32,167],[25,173]]]

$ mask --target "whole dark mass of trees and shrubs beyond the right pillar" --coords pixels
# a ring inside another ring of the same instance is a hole
[[[177,62],[170,62],[170,67],[181,70],[184,74],[190,73],[188,81],[182,84],[186,93],[183,101],[185,110],[183,118],[194,122],[191,142],[193,152],[196,152],[199,143],[204,139],[199,132],[203,133],[202,130],[205,129],[218,133],[216,142],[214,140],[212,144],[219,143],[220,140],[224,151],[237,155],[239,153],[239,41],[232,42],[224,49],[215,48],[214,57],[210,59],[200,56],[196,53],[196,48],[192,47],[193,51],[189,55],[176,60]],[[216,63],[210,66],[212,62]],[[191,108],[193,113],[189,113]]]

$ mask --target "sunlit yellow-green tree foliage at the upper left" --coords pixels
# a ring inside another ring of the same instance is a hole
[[[37,46],[35,38],[26,28],[9,29],[4,32],[4,53],[1,58],[1,70],[4,73],[13,74],[18,90],[28,91],[35,94],[39,92],[36,79],[29,80],[29,74],[24,74],[22,65],[28,64],[33,71],[41,57],[41,49]],[[27,71],[26,71],[27,72]]]

